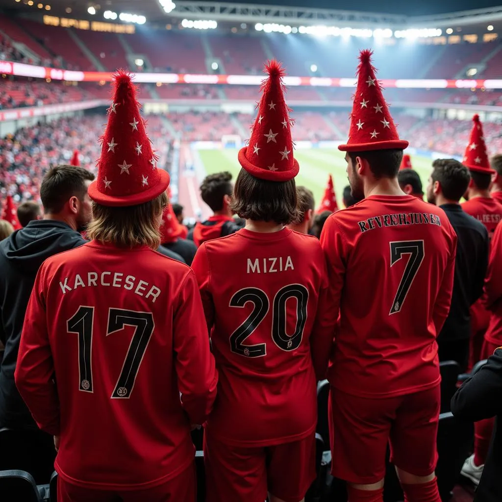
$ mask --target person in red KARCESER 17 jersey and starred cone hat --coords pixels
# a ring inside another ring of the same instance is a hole
[[[130,75],[114,84],[88,189],[92,240],[42,265],[16,385],[54,435],[61,502],[194,502],[190,431],[211,410],[217,373],[194,273],[156,252],[169,175]]]

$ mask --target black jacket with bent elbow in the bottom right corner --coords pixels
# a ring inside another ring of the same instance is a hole
[[[460,420],[477,422],[497,417],[493,439],[484,464],[483,475],[474,502],[502,500],[502,348],[470,379],[466,380],[451,400],[451,412]]]

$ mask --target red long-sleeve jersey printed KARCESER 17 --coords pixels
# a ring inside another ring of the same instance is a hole
[[[146,246],[96,241],[48,259],[15,378],[39,427],[61,436],[66,481],[134,489],[175,476],[217,385],[193,272]]]

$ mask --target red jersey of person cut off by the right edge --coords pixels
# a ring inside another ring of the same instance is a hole
[[[502,225],[496,227],[491,239],[488,272],[481,300],[491,314],[484,339],[502,345]]]

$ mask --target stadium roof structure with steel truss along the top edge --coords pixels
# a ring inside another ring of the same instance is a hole
[[[286,0],[285,0],[286,1]],[[128,12],[146,16],[149,22],[177,22],[182,19],[214,20],[234,23],[281,23],[291,26],[343,24],[353,28],[443,28],[446,26],[481,25],[502,21],[502,6],[432,16],[406,16],[363,11],[317,9],[310,7],[285,7],[206,0],[173,0],[175,7],[166,12],[161,0],[40,0],[50,6],[50,12],[30,9],[27,0],[0,0],[0,9],[23,14],[50,14],[78,16],[79,19],[102,20],[105,10]],[[162,0],[167,2],[167,0]],[[88,14],[90,6],[96,15]],[[45,7],[45,6],[44,6]]]

